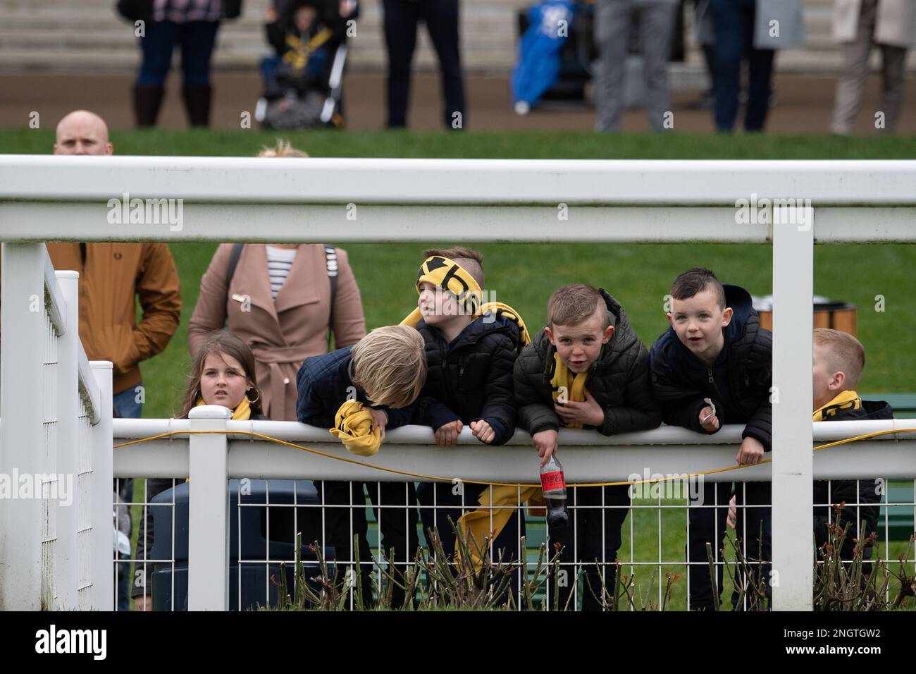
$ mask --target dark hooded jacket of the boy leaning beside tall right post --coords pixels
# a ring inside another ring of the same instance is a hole
[[[719,427],[745,424],[742,437],[757,438],[766,451],[772,444],[773,335],[760,327],[750,294],[725,285],[725,305],[734,311],[723,328],[725,347],[712,368],[685,347],[669,327],[652,345],[652,393],[668,425],[707,433],[700,425],[703,398],[715,404]]]

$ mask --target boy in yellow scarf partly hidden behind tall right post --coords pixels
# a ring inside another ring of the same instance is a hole
[[[862,400],[856,385],[865,368],[865,349],[856,337],[839,330],[819,327],[814,330],[814,421],[864,421],[892,419],[894,412],[883,401]],[[855,540],[864,540],[878,531],[878,503],[881,501],[878,480],[814,481],[814,543],[822,547],[828,541],[827,524],[835,522],[849,531],[840,558],[851,560]],[[832,504],[845,503],[840,516]],[[856,505],[858,503],[858,505]],[[865,530],[861,530],[865,520]],[[872,546],[863,550],[863,559],[870,559]],[[863,573],[871,565],[863,565]]]

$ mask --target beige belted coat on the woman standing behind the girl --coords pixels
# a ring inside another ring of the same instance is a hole
[[[295,250],[275,300],[271,274],[276,271],[268,270],[268,246],[245,244],[227,284],[233,248],[234,244],[220,245],[203,274],[201,295],[188,326],[188,347],[193,355],[208,334],[228,327],[255,354],[265,414],[275,421],[296,421],[296,372],[302,361],[327,352],[329,330],[335,348],[349,347],[365,337],[363,304],[353,271],[343,249],[328,255],[321,244],[272,244],[272,258],[289,257],[289,251]],[[334,271],[332,319],[330,274]]]

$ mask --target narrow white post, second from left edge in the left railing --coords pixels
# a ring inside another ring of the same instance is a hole
[[[58,451],[57,473],[59,494],[67,489],[70,503],[58,500],[57,526],[58,542],[55,561],[55,585],[57,598],[55,609],[72,611],[77,608],[79,586],[79,563],[77,553],[79,496],[74,498],[71,489],[76,484],[79,464],[78,416],[81,412],[79,392],[80,343],[80,274],[76,271],[56,271],[60,293],[64,300],[64,325],[58,340],[58,436],[61,444]],[[66,503],[66,504],[65,504]]]

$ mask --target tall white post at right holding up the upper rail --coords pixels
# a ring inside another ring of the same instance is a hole
[[[814,227],[773,225],[773,608],[811,611]]]

